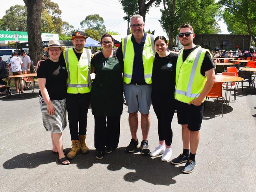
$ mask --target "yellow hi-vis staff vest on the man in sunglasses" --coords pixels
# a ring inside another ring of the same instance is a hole
[[[180,50],[177,60],[174,96],[180,102],[189,103],[193,99],[198,98],[204,89],[207,78],[202,76],[200,69],[206,52],[210,54],[210,51],[198,47],[182,62],[183,50]]]

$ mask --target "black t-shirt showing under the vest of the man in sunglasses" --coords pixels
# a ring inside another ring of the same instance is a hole
[[[191,52],[193,52],[193,50],[195,50],[198,47],[199,46],[195,46],[192,49],[184,49],[183,50],[183,55],[182,55],[183,61],[185,61],[187,59],[187,56],[189,54],[191,54]],[[211,59],[210,54],[208,52],[206,52],[206,54],[204,56],[204,60],[203,60],[202,66],[201,66],[201,70],[200,70],[202,76],[205,76],[205,72],[210,70],[211,68],[214,68],[213,63],[212,63],[212,59]]]

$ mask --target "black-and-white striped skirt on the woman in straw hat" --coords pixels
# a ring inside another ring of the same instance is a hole
[[[43,97],[39,95],[39,104],[43,117],[43,125],[46,131],[53,133],[61,133],[67,126],[67,110],[66,110],[66,98],[63,100],[51,100],[52,105],[55,108],[54,115],[49,115],[47,112],[47,104]]]

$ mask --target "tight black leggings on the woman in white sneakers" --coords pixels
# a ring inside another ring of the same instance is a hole
[[[165,140],[167,146],[171,146],[173,141],[173,131],[171,123],[175,112],[175,101],[156,102],[152,100],[152,105],[158,118],[158,137],[159,140]]]

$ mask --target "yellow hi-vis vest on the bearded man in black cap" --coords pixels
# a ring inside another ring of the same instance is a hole
[[[88,93],[91,92],[90,61],[91,50],[83,49],[78,61],[73,48],[66,48],[63,51],[67,66],[67,93]]]

